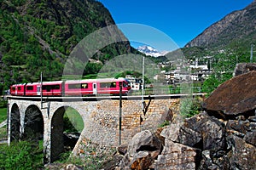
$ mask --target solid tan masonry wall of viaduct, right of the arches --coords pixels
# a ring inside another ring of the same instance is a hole
[[[149,100],[145,100],[148,105]],[[121,143],[125,144],[132,137],[145,129],[153,130],[164,121],[168,111],[178,110],[179,99],[151,100],[148,110],[143,114],[141,100],[123,100]],[[96,103],[96,108],[90,113],[90,119],[84,122],[84,131],[81,133],[78,144],[73,153],[79,155],[84,152],[88,139],[93,144],[103,146],[119,145],[119,101],[102,100]]]

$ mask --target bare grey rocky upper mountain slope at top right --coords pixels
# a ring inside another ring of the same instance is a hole
[[[256,44],[256,1],[246,8],[226,15],[212,24],[185,47],[225,48],[232,43],[251,46]]]

